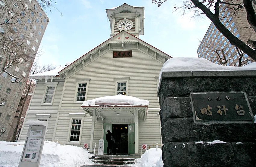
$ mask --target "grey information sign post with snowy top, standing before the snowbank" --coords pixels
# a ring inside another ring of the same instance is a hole
[[[27,121],[25,125],[29,129],[18,167],[39,167],[48,122]]]

